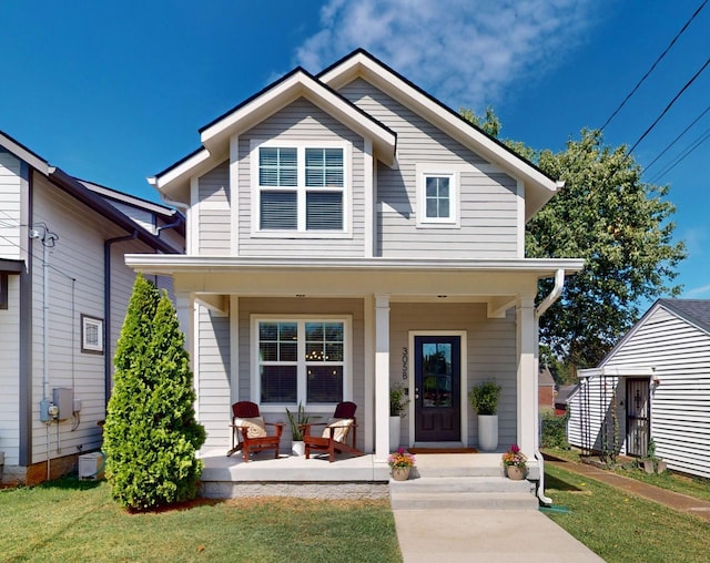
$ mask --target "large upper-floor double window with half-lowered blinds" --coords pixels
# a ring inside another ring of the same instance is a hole
[[[268,141],[252,150],[256,231],[346,231],[347,147]]]

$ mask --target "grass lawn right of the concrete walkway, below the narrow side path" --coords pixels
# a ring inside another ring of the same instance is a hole
[[[707,562],[708,522],[604,483],[545,467],[549,518],[608,562]]]

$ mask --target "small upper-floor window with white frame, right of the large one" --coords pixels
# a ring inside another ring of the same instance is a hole
[[[459,226],[458,173],[444,165],[417,165],[417,226]]]

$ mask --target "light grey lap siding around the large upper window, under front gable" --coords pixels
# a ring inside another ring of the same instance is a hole
[[[352,168],[349,186],[349,216],[352,217],[352,237],[332,238],[327,234],[317,238],[264,238],[252,233],[253,205],[251,177],[251,141],[280,139],[294,142],[318,141],[352,143]],[[320,256],[320,257],[358,257],[364,254],[365,240],[365,193],[364,193],[364,157],[363,139],[345,125],[316,108],[311,102],[301,99],[287,108],[275,113],[254,129],[240,136],[239,147],[239,228],[241,256]]]

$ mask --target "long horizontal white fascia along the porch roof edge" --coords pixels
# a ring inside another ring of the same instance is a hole
[[[580,272],[585,260],[578,258],[524,258],[499,260],[442,260],[406,258],[290,258],[189,256],[170,254],[126,254],[129,267],[151,272],[197,272],[230,269],[332,269],[393,272],[510,272],[536,274],[538,278],[555,276],[558,269],[567,275]]]

